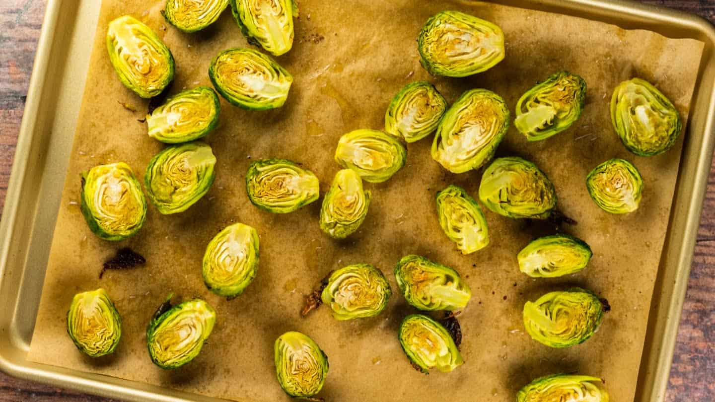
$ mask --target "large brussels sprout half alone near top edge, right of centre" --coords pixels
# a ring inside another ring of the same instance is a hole
[[[417,44],[422,67],[433,75],[467,77],[504,59],[501,28],[459,11],[441,11],[431,16]]]

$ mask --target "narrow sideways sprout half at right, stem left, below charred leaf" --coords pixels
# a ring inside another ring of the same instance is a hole
[[[532,278],[558,278],[583,270],[591,260],[591,247],[569,235],[541,237],[517,256],[519,270]]]

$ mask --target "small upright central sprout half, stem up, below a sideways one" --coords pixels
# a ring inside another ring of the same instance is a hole
[[[358,173],[340,170],[322,199],[320,229],[335,239],[352,235],[368,215],[370,199],[370,191],[363,190],[363,180]]]

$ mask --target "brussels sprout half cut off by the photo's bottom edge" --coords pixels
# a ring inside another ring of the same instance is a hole
[[[516,394],[516,402],[608,402],[598,377],[554,374],[536,378]]]

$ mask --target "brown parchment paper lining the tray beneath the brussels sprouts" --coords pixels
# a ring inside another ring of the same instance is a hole
[[[701,42],[494,4],[301,0],[295,45],[278,58],[295,77],[285,107],[250,112],[222,99],[220,126],[206,139],[218,159],[208,194],[178,215],[160,215],[150,205],[137,236],[107,242],[89,231],[79,211],[80,172],[124,161],[143,177],[147,162],[163,147],[137,122],[147,101],[125,89],[109,64],[107,23],[133,14],[163,37],[177,63],[172,92],[210,86],[212,57],[229,47],[247,46],[229,11],[204,32],[182,34],[164,22],[162,8],[163,1],[103,2],[29,354],[32,361],[237,401],[288,401],[275,379],[273,343],[287,330],[300,330],[330,359],[320,394],[327,401],[513,401],[532,378],[573,371],[603,377],[613,401],[633,400],[682,140],[666,155],[631,155],[613,133],[608,102],[616,84],[641,77],[656,84],[687,117]],[[443,9],[499,24],[506,33],[506,59],[473,77],[430,77],[418,62],[415,39],[424,21]],[[320,231],[320,202],[292,214],[272,215],[247,198],[247,167],[267,157],[303,162],[320,177],[325,192],[340,169],[332,160],[340,135],[358,128],[381,129],[390,99],[408,82],[433,82],[448,102],[465,89],[491,89],[513,110],[523,92],[562,69],[588,83],[581,119],[567,132],[531,144],[512,128],[498,156],[526,157],[551,177],[558,207],[578,221],[566,231],[593,248],[593,259],[582,273],[558,280],[532,280],[519,273],[518,251],[554,228],[491,212],[486,213],[489,247],[461,255],[440,229],[435,192],[455,184],[476,197],[480,172],[445,172],[430,157],[431,139],[408,146],[407,165],[391,180],[365,184],[373,191],[373,205],[349,240],[335,241]],[[599,210],[586,192],[586,174],[611,157],[633,162],[646,182],[641,207],[631,215]],[[204,287],[201,260],[207,242],[233,222],[252,225],[260,233],[261,260],[247,291],[226,301]],[[111,271],[100,280],[102,263],[119,247],[132,247],[147,258],[147,265]],[[473,298],[458,316],[465,364],[452,373],[424,376],[400,350],[398,326],[413,309],[398,291],[393,267],[410,253],[452,266],[472,288]],[[383,270],[395,291],[387,310],[377,318],[339,322],[323,306],[301,318],[305,295],[330,270],[351,263],[371,263]],[[570,285],[590,288],[611,302],[613,310],[601,330],[565,350],[531,340],[523,331],[523,303]],[[114,355],[92,360],[67,337],[65,315],[75,293],[99,287],[108,290],[122,314],[123,337]],[[169,292],[184,299],[204,298],[218,313],[202,353],[177,371],[152,364],[144,335],[154,309]]]

